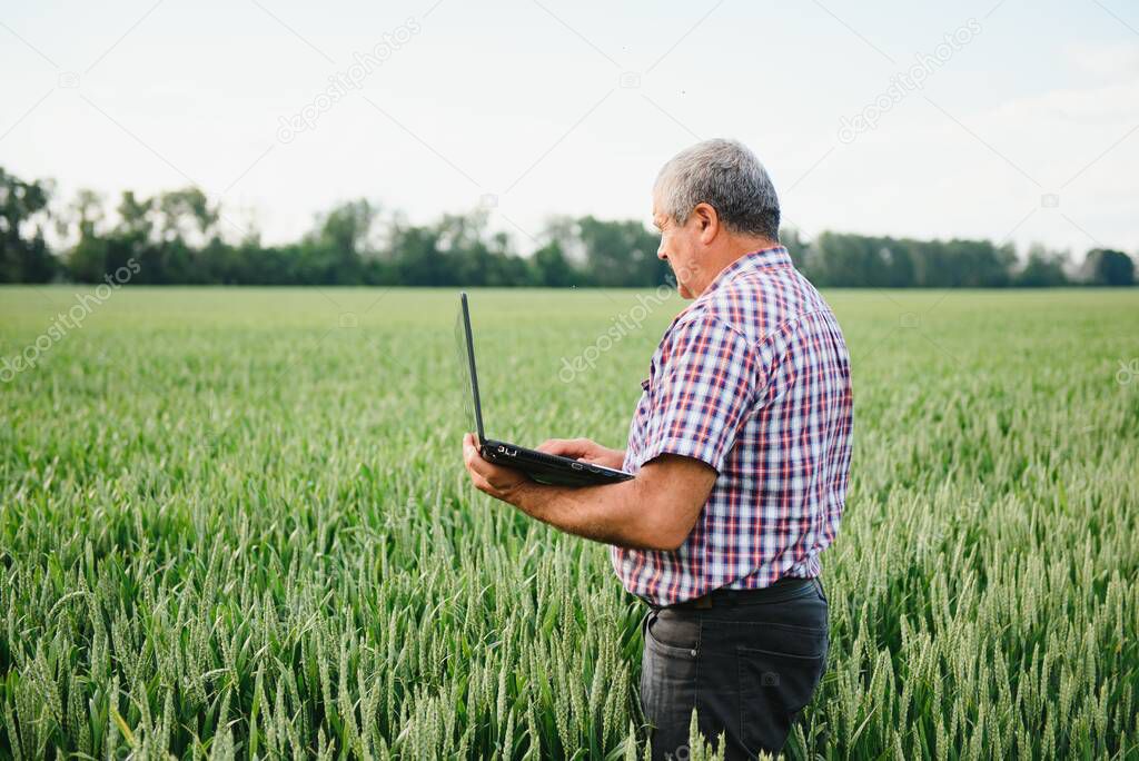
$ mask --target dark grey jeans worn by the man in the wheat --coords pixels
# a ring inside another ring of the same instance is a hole
[[[769,589],[735,605],[645,616],[640,690],[654,759],[691,758],[694,707],[705,738],[724,733],[727,759],[782,747],[826,670],[827,598],[818,580]]]

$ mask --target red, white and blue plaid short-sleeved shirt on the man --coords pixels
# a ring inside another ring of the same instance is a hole
[[[679,549],[612,548],[625,589],[672,605],[818,575],[850,476],[850,360],[787,249],[726,268],[669,326],[641,387],[623,468],[667,452],[719,475]]]

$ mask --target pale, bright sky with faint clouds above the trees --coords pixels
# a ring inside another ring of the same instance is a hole
[[[650,223],[670,156],[736,138],[784,220],[1139,252],[1125,0],[0,3],[0,166],[110,202],[197,185],[227,235],[367,197]]]

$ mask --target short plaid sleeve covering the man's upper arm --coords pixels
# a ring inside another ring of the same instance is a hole
[[[712,316],[677,325],[661,344],[640,461],[681,455],[723,469],[756,394],[747,339]]]

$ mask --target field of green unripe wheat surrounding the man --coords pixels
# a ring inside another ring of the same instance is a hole
[[[473,293],[489,433],[622,445],[681,302],[558,370],[636,295]],[[855,452],[787,753],[1139,758],[1139,291],[826,296]],[[456,301],[128,288],[0,385],[0,756],[640,758],[642,608],[468,485]],[[0,289],[0,357],[74,303]]]

